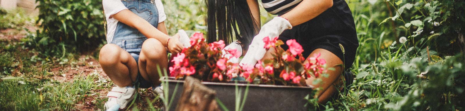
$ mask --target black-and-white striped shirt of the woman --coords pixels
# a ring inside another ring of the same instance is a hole
[[[263,7],[271,14],[284,14],[299,5],[302,0],[262,0]]]

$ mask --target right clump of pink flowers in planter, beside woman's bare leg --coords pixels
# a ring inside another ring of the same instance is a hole
[[[326,61],[320,59],[319,54],[305,59],[301,54],[304,50],[295,39],[286,41],[289,49],[285,51],[281,48],[284,42],[277,38],[263,39],[264,48],[269,50],[274,47],[276,53],[273,54],[273,58],[258,61],[254,66],[242,66],[240,76],[259,84],[304,86],[306,85],[304,78],[318,77],[326,73]]]

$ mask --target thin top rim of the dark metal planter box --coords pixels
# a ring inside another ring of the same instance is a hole
[[[184,83],[184,80],[172,80],[169,78],[174,78],[174,77],[161,77],[160,81],[167,81],[167,82],[178,82],[178,83]],[[288,86],[288,85],[256,85],[256,84],[242,84],[242,83],[216,83],[216,82],[201,82],[204,85],[238,85],[238,86],[252,86],[252,87],[272,87],[272,88],[303,88],[303,89],[312,89],[314,86],[309,85],[309,86]]]

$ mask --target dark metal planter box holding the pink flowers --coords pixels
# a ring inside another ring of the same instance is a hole
[[[173,78],[164,78],[162,81],[167,81],[169,84],[169,98],[173,96],[173,90],[178,85],[173,103],[170,106],[170,111],[174,111],[181,97],[184,81],[173,80]],[[236,85],[241,89],[242,94],[247,86],[245,81],[239,81],[238,84],[213,82],[202,82],[202,84],[215,90],[216,97],[230,111],[235,110]],[[304,98],[312,92],[312,88],[312,86],[250,84],[244,111],[307,111],[307,107],[304,106],[307,101]]]

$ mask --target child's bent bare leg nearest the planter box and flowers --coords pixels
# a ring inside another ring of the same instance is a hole
[[[147,81],[151,81],[153,86],[158,86],[161,83],[157,65],[160,66],[161,70],[166,69],[168,65],[166,48],[157,39],[150,38],[142,44],[142,51],[139,56],[139,70],[142,77]]]

